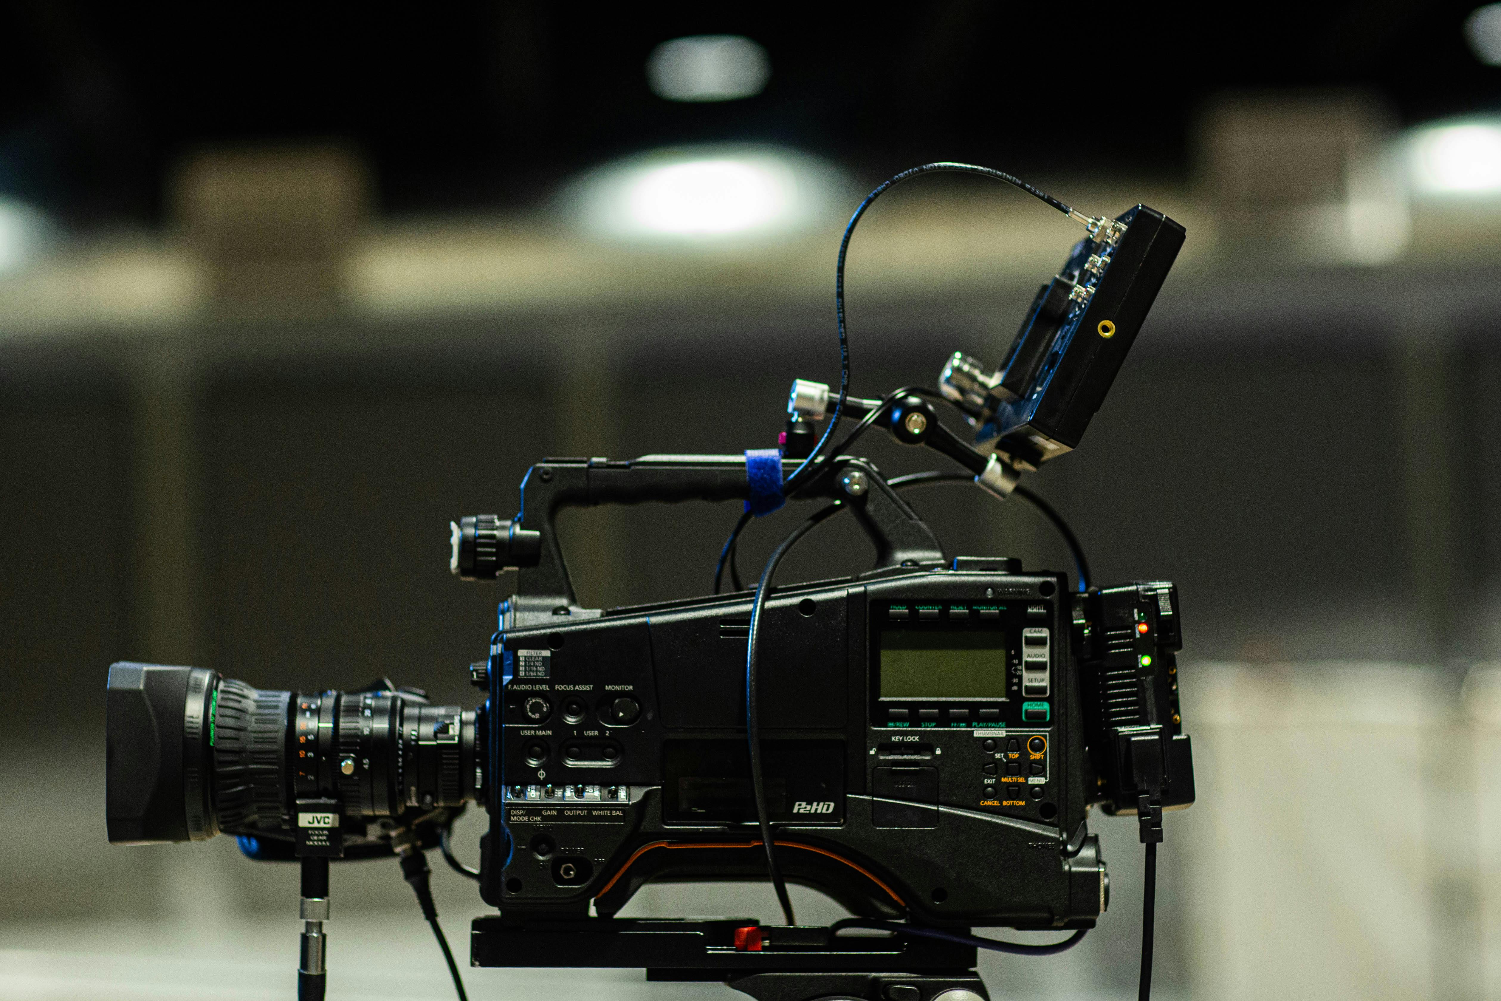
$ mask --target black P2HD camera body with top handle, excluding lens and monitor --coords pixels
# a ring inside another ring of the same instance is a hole
[[[1118,734],[1160,746],[1165,807],[1193,798],[1175,588],[1078,594],[1015,560],[944,560],[880,473],[854,464],[865,488],[844,500],[877,567],[778,588],[761,612],[784,873],[865,917],[1091,926],[1109,884],[1088,807],[1135,807]],[[509,543],[536,563],[519,569],[483,674],[480,890],[506,923],[608,917],[648,881],[766,879],[747,779],[752,594],[579,608],[551,518],[569,503],[743,494],[743,470],[740,456],[546,461],[522,491],[546,512],[525,522],[539,537],[479,519],[498,525],[480,530],[480,546],[501,549],[486,558],[504,563]],[[833,492],[848,471],[821,482]]]

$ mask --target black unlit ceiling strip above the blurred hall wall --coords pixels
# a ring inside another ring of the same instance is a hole
[[[0,5],[0,194],[77,227],[156,222],[209,144],[344,140],[386,212],[524,206],[588,164],[705,140],[773,141],[890,173],[1181,176],[1196,111],[1229,89],[1369,87],[1405,122],[1493,107],[1475,6],[1339,5]],[[812,14],[811,14],[812,12]],[[877,14],[880,12],[880,14]],[[683,35],[746,35],[767,89],[672,104],[644,63]]]

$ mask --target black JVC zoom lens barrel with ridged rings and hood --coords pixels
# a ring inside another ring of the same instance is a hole
[[[476,713],[411,692],[278,692],[204,668],[110,668],[110,840],[291,839],[299,798],[350,819],[459,807],[482,777]],[[360,830],[359,822],[353,825]]]

